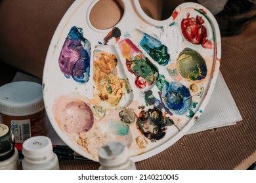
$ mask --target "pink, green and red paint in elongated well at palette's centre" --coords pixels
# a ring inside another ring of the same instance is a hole
[[[148,59],[144,58],[140,50],[129,39],[119,42],[119,48],[126,59],[126,66],[130,73],[136,76],[135,85],[139,89],[151,86],[158,76],[158,68]]]

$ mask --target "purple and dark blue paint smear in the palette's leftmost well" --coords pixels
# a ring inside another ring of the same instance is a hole
[[[79,83],[89,80],[91,43],[83,37],[83,29],[72,27],[64,42],[58,65],[67,77]]]

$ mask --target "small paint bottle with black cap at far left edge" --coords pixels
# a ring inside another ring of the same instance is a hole
[[[10,127],[0,124],[0,170],[18,170],[20,161]]]

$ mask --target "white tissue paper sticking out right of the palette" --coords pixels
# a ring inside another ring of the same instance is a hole
[[[241,120],[242,116],[236,107],[236,103],[224,81],[223,75],[219,72],[207,107],[205,107],[198,122],[192,126],[187,134],[198,133],[226,125],[234,125]]]

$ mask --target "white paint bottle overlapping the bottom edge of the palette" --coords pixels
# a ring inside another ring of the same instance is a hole
[[[98,152],[99,170],[136,170],[123,143],[114,141],[104,144]]]

